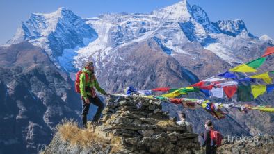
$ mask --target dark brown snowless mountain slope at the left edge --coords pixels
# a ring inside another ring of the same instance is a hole
[[[79,119],[72,80],[29,42],[0,49],[0,153],[38,153],[63,117]]]

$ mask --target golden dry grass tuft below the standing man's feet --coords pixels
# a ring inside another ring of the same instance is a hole
[[[90,124],[88,129],[82,130],[75,121],[65,119],[56,128],[61,138],[69,141],[72,146],[91,147],[96,144],[101,146],[107,144],[102,137],[91,131]]]

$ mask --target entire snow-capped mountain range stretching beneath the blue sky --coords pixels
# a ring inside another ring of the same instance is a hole
[[[251,48],[266,42],[248,32],[242,20],[211,22],[202,8],[183,0],[150,14],[104,14],[81,19],[65,8],[31,14],[8,44],[29,41],[45,49],[57,66],[73,72],[97,51],[106,55],[115,48],[150,38],[171,56],[192,55],[184,51],[184,46],[197,42],[229,64],[242,62],[235,53],[243,46]]]

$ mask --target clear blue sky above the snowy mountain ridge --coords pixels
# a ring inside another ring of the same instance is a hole
[[[31,12],[54,12],[63,6],[80,17],[95,17],[106,12],[151,12],[179,0],[1,0],[0,44],[13,37],[21,21]],[[254,35],[274,39],[273,0],[188,0],[202,7],[211,22],[219,19],[243,19]]]

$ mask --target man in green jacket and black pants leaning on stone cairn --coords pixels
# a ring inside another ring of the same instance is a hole
[[[76,75],[77,76],[77,75]],[[76,78],[77,80],[77,78]],[[82,122],[83,128],[86,128],[88,110],[90,108],[90,103],[96,105],[97,112],[92,119],[92,123],[98,123],[101,113],[104,110],[104,103],[97,96],[94,87],[98,92],[105,96],[109,96],[104,89],[99,86],[99,83],[94,74],[93,62],[87,62],[85,67],[82,69],[81,74],[79,74],[79,89],[82,99]]]

